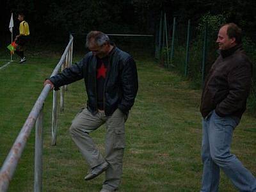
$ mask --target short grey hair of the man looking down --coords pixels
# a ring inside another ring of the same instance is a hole
[[[86,36],[86,47],[89,47],[92,44],[101,46],[105,43],[109,43],[109,37],[101,31],[90,31]]]

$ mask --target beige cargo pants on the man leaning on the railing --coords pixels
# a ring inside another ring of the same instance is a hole
[[[114,190],[118,188],[122,175],[122,161],[125,147],[125,121],[127,116],[116,109],[111,116],[106,116],[104,111],[92,115],[88,109],[83,109],[76,115],[70,126],[70,134],[77,147],[83,154],[90,168],[107,161],[106,179],[103,183],[104,189]],[[99,149],[89,136],[100,125],[106,124],[106,157],[102,157]]]

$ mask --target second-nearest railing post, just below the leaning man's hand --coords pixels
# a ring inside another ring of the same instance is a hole
[[[53,99],[52,99],[52,145],[56,145],[56,140],[57,140],[57,105],[58,105],[58,92],[53,91]]]

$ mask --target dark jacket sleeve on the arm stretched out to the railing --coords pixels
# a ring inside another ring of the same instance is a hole
[[[60,86],[70,84],[83,79],[83,65],[86,65],[85,59],[75,63],[71,67],[65,68],[60,74],[50,77],[50,81],[54,84],[54,90],[58,90]]]

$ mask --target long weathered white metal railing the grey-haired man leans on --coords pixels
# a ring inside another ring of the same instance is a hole
[[[68,45],[63,52],[59,63],[54,68],[51,76],[58,73],[60,68],[63,70],[65,67],[69,67],[72,63],[73,55],[73,36],[70,35]],[[65,88],[67,90],[67,86]],[[44,101],[51,90],[51,85],[47,84],[38,99],[36,100],[31,112],[29,113],[26,122],[19,132],[13,146],[6,157],[3,166],[0,170],[0,192],[5,192],[8,189],[10,180],[12,180],[13,174],[17,168],[20,156],[25,148],[26,142],[29,138],[31,130],[35,125],[35,174],[34,174],[34,191],[42,191],[42,152],[43,152],[43,108]],[[61,110],[64,109],[64,89],[61,88]],[[52,145],[56,145],[56,133],[57,133],[57,93],[53,92],[52,101]]]

